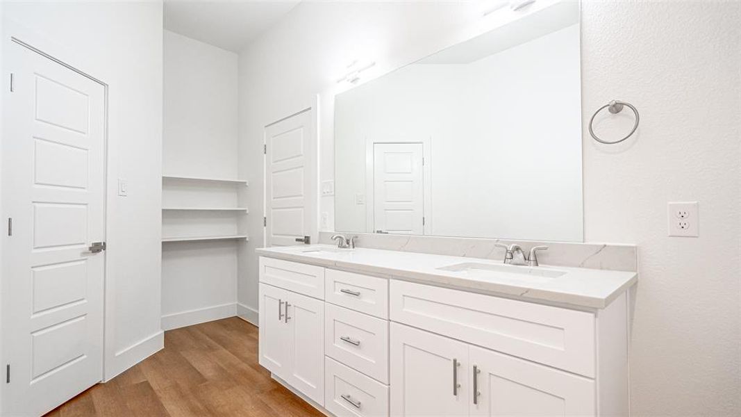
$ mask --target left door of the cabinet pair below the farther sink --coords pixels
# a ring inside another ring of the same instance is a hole
[[[290,375],[290,326],[285,321],[289,292],[261,283],[259,361],[279,378]]]

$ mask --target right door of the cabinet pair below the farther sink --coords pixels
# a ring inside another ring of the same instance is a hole
[[[304,395],[324,405],[324,301],[289,292],[290,375]]]

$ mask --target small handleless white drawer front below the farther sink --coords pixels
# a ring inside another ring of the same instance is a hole
[[[325,269],[322,266],[261,256],[259,277],[261,283],[324,299]]]

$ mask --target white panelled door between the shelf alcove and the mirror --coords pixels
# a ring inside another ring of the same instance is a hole
[[[308,109],[265,127],[265,246],[318,239],[315,126]]]

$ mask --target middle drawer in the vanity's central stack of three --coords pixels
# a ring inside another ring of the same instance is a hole
[[[325,303],[325,355],[388,384],[388,321]]]

